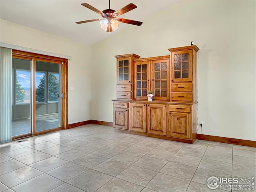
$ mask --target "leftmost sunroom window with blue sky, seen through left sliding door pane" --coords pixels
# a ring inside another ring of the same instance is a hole
[[[30,71],[16,70],[16,104],[30,103]]]

